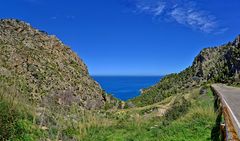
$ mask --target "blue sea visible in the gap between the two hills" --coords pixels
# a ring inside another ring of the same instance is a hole
[[[93,76],[109,94],[121,100],[140,95],[140,89],[148,88],[160,81],[162,76]]]

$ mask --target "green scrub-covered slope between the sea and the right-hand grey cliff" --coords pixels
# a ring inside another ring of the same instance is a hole
[[[134,103],[136,106],[146,106],[160,102],[167,97],[176,95],[177,93],[186,92],[187,88],[194,85],[192,76],[192,68],[188,68],[179,74],[167,75],[162,78],[158,84],[143,90],[143,94],[141,96],[131,99],[129,102]]]

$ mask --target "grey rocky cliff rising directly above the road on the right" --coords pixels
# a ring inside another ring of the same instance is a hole
[[[195,58],[194,75],[203,81],[238,83],[240,73],[240,36],[220,47],[203,49]]]

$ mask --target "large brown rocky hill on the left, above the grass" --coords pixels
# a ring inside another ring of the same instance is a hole
[[[19,20],[0,20],[0,82],[40,105],[98,109],[105,103],[104,92],[68,46]]]

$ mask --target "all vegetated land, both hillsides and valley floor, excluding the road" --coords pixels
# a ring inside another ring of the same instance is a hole
[[[219,139],[209,85],[240,86],[240,37],[202,50],[192,66],[125,103],[107,95],[56,37],[0,22],[0,140]]]

